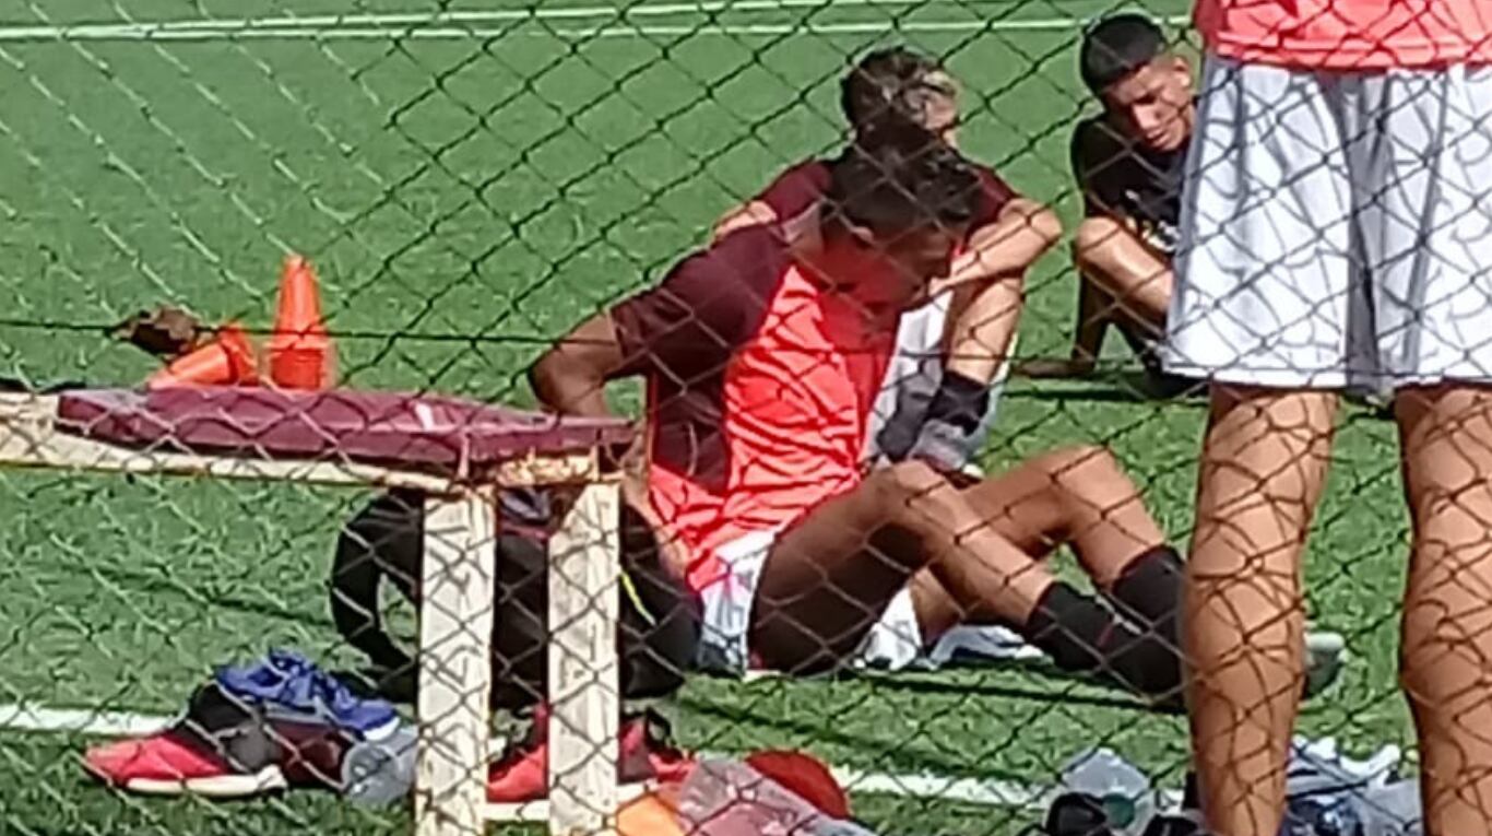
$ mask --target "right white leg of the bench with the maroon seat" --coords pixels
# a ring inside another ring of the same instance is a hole
[[[615,482],[580,490],[549,545],[549,833],[612,833],[618,806]]]

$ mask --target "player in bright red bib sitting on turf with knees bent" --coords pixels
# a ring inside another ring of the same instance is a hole
[[[649,466],[628,503],[701,602],[700,664],[812,673],[876,645],[1001,624],[1067,670],[1174,700],[1176,552],[1113,458],[1035,457],[992,479],[862,466],[900,315],[950,272],[982,190],[946,146],[827,164],[822,243],[727,236],[579,325],[533,367],[542,403],[607,414],[649,391]],[[1058,581],[1068,545],[1125,618]]]

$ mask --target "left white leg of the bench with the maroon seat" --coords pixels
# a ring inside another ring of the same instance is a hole
[[[425,500],[418,836],[485,832],[495,508],[480,491]]]

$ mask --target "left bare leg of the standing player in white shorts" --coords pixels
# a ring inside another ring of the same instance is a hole
[[[1276,836],[1304,679],[1300,555],[1335,394],[1214,385],[1186,564],[1192,749],[1207,826]]]

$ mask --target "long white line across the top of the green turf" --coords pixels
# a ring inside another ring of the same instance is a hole
[[[1162,18],[1167,25],[1185,25],[1185,15]],[[215,42],[215,40],[483,40],[519,36],[562,37],[589,40],[598,37],[683,37],[728,36],[764,37],[792,34],[882,34],[882,33],[1001,33],[1001,31],[1077,31],[1082,18],[1028,18],[994,21],[856,21],[792,24],[700,24],[700,25],[594,25],[594,27],[243,27],[243,28],[163,28],[158,24],[84,24],[84,25],[16,25],[0,27],[0,42],[51,40],[148,40],[148,42]]]

